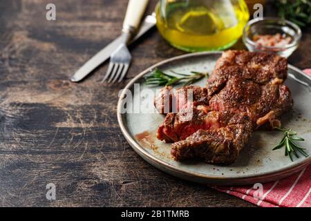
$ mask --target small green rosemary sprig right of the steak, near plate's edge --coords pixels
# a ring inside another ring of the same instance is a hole
[[[296,144],[297,141],[304,141],[302,137],[298,137],[297,133],[295,131],[292,131],[292,128],[278,128],[275,127],[278,131],[283,131],[283,138],[279,144],[277,144],[274,148],[274,150],[277,150],[279,148],[282,148],[285,146],[285,156],[289,156],[290,160],[293,161],[292,155],[299,158],[298,152],[304,155],[305,157],[308,157],[308,153],[305,152],[305,148],[302,148],[298,144]]]

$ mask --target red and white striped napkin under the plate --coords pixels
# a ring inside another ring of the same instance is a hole
[[[311,69],[303,72],[311,76]],[[253,185],[214,188],[257,206],[311,207],[311,165],[290,177],[262,185],[261,195],[258,195],[259,187]]]

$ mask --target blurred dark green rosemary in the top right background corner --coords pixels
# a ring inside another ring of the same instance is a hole
[[[311,23],[310,0],[274,0],[274,3],[282,19],[288,19],[301,27]]]

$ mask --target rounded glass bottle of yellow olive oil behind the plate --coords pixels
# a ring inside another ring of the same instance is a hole
[[[229,48],[249,19],[243,0],[160,1],[156,14],[162,37],[190,52]]]

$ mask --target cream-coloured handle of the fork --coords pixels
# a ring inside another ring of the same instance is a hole
[[[135,32],[140,26],[140,21],[147,8],[149,0],[129,0],[125,19],[123,22],[124,32]]]

